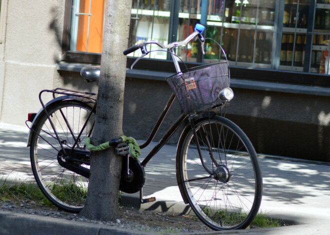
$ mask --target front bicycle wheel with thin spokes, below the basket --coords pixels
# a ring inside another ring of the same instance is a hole
[[[245,229],[258,212],[262,191],[251,142],[237,125],[219,116],[196,121],[195,130],[198,143],[186,128],[177,147],[184,201],[213,230]]]

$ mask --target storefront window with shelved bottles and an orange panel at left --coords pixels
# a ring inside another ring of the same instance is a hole
[[[70,51],[101,53],[105,1],[71,0]],[[330,0],[133,0],[129,46],[182,40],[196,23],[206,26],[204,36],[222,46],[232,68],[330,73]],[[157,46],[148,49],[156,51],[145,58],[169,58]],[[204,51],[201,55],[197,41],[176,50],[188,63],[225,59],[211,40]]]

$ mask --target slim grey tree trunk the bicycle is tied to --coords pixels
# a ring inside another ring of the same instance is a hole
[[[93,145],[123,134],[126,56],[122,51],[128,45],[130,8],[131,0],[107,1]],[[80,213],[82,216],[102,221],[118,218],[121,159],[112,148],[91,154],[88,193]]]

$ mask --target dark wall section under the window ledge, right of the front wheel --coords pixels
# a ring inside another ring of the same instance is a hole
[[[330,97],[234,89],[227,117],[258,153],[330,162]]]

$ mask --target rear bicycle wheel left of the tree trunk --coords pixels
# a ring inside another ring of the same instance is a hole
[[[65,148],[72,148],[73,136],[77,137],[92,107],[82,101],[64,100],[52,103],[46,110],[56,126],[60,141]],[[84,140],[93,128],[94,118],[92,114],[76,148],[84,149]],[[88,179],[59,165],[57,155],[61,148],[44,111],[35,122],[30,144],[30,161],[35,181],[44,196],[56,207],[78,213],[84,206]],[[81,165],[89,168],[88,163]]]

